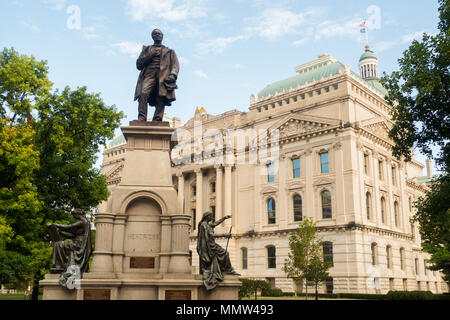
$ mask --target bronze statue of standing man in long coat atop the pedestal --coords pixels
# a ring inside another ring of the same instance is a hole
[[[143,46],[136,61],[136,67],[141,70],[134,100],[139,101],[139,116],[141,121],[147,121],[148,104],[155,107],[153,121],[162,121],[165,106],[175,101],[176,80],[179,63],[175,51],[163,46],[163,33],[159,29],[152,31],[153,45]]]

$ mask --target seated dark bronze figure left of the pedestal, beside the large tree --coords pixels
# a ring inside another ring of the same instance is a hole
[[[73,280],[80,279],[89,268],[92,254],[91,227],[85,212],[73,209],[72,216],[78,221],[65,224],[49,224],[47,227],[53,245],[51,273],[60,273],[60,284],[73,289]],[[61,237],[72,239],[61,240]]]

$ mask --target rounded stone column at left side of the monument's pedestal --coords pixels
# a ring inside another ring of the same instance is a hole
[[[112,239],[114,214],[97,213],[95,251],[89,274],[96,278],[113,278]],[[88,275],[86,273],[85,275]]]

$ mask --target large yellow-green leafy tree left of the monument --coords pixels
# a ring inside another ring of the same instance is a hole
[[[0,53],[0,282],[32,281],[34,298],[50,267],[46,225],[107,199],[94,164],[123,117],[85,87],[51,92],[47,71],[14,49]]]

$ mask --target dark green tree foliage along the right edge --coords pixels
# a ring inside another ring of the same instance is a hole
[[[384,74],[382,83],[392,106],[393,154],[409,161],[416,146],[442,171],[415,202],[413,221],[419,222],[423,250],[431,254],[430,269],[450,281],[450,1],[439,1],[439,19],[439,32],[413,41],[398,60],[400,70]],[[439,150],[435,155],[432,146]]]

